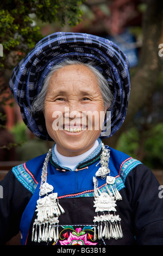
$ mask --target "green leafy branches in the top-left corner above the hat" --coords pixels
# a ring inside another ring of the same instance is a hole
[[[12,63],[8,59],[11,51],[26,54],[42,38],[40,27],[32,20],[35,14],[41,22],[66,21],[75,26],[81,21],[83,0],[5,0],[0,2],[0,44],[3,45],[0,69]],[[20,57],[17,61],[23,57]],[[14,58],[17,58],[15,56]],[[14,60],[12,60],[14,62]],[[14,66],[15,63],[13,63]]]

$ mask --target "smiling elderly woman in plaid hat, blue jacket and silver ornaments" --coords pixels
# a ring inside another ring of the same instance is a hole
[[[101,141],[120,129],[130,81],[127,57],[89,34],[42,39],[14,69],[10,89],[46,155],[1,182],[1,243],[162,245],[163,201],[151,170]]]

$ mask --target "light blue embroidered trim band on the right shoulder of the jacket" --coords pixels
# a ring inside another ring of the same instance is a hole
[[[142,163],[139,160],[133,159],[132,157],[129,157],[129,159],[126,159],[122,162],[119,174],[122,178],[123,183],[126,181],[129,172],[134,169],[138,164]]]

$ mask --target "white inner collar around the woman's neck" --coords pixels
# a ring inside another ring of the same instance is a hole
[[[86,159],[86,157],[89,156],[98,147],[98,144],[98,141],[96,141],[91,149],[87,150],[85,153],[78,156],[61,155],[57,150],[57,145],[55,144],[54,154],[57,157],[60,166],[65,166],[67,168],[70,168],[71,170],[75,170],[78,163]]]

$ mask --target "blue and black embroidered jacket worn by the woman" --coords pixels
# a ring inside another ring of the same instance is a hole
[[[123,238],[92,241],[93,217],[96,215],[92,178],[99,168],[101,152],[80,163],[78,171],[63,170],[51,157],[47,182],[53,185],[53,192],[58,192],[59,203],[65,210],[59,217],[58,245],[68,244],[74,237],[78,237],[78,241],[80,238],[85,245],[163,245],[163,199],[159,198],[158,181],[140,161],[109,149],[110,175],[115,176],[117,190],[122,196],[122,200],[116,202],[116,215],[121,217]],[[45,156],[12,168],[1,182],[4,191],[4,198],[0,199],[1,243],[20,230],[22,245],[32,244],[32,226]],[[106,180],[97,179],[99,190],[105,191]]]

